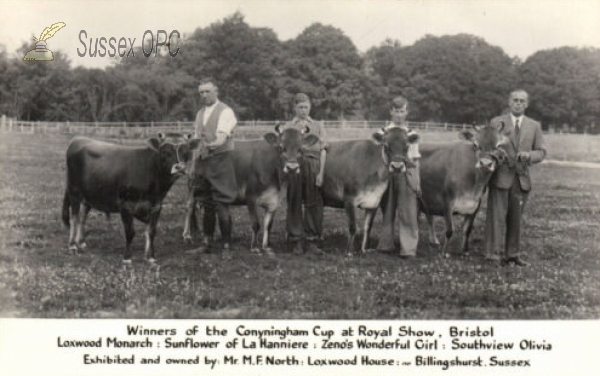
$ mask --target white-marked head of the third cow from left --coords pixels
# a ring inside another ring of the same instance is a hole
[[[418,152],[419,135],[403,128],[382,128],[373,133],[373,140],[382,146],[383,163],[391,173],[404,173],[407,167],[414,167],[420,157]]]

